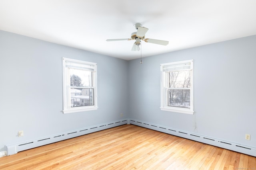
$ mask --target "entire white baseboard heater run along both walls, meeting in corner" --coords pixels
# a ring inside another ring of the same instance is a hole
[[[17,152],[20,152],[20,151],[23,151],[23,150],[32,149],[32,148],[35,148],[35,147],[40,147],[40,146],[43,146],[43,145],[48,145],[50,143],[63,141],[63,140],[66,140],[66,139],[86,135],[86,134],[97,132],[97,131],[102,131],[102,130],[105,130],[105,129],[109,129],[109,128],[112,128],[112,127],[125,125],[125,124],[131,124],[131,125],[137,125],[137,126],[140,126],[140,127],[145,127],[147,129],[160,131],[160,132],[167,133],[167,134],[170,134],[170,135],[183,137],[183,138],[190,139],[190,140],[193,140],[193,141],[206,143],[208,145],[213,145],[213,146],[216,146],[216,147],[220,147],[220,148],[224,148],[224,149],[228,149],[228,150],[233,150],[233,151],[236,151],[236,152],[240,152],[240,153],[244,153],[244,154],[248,154],[248,155],[256,157],[256,148],[255,147],[240,145],[238,143],[233,143],[233,142],[230,142],[230,141],[223,141],[223,140],[216,139],[216,138],[213,138],[213,137],[203,136],[203,135],[199,135],[199,134],[196,134],[196,133],[182,131],[182,130],[179,130],[179,129],[173,129],[173,128],[170,128],[170,127],[165,127],[165,126],[162,126],[162,125],[156,125],[156,124],[153,124],[153,123],[139,121],[139,120],[136,120],[136,119],[122,119],[122,120],[119,120],[119,121],[113,121],[113,122],[109,122],[109,123],[105,123],[105,124],[95,125],[95,126],[91,126],[91,127],[85,127],[85,128],[77,129],[77,130],[74,130],[74,131],[68,131],[68,132],[65,132],[65,133],[57,134],[57,135],[52,135],[52,136],[48,136],[48,137],[44,137],[44,138],[40,138],[40,139],[35,139],[35,140],[32,140],[32,141],[26,141],[26,142],[22,142],[22,143],[6,145],[5,146],[6,151],[0,152],[0,157],[1,157],[1,155],[2,156],[12,155],[12,154],[16,154]]]

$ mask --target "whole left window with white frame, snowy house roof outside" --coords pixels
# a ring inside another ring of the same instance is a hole
[[[96,110],[97,65],[63,58],[63,113]]]

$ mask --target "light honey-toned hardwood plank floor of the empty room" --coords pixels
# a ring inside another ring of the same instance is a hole
[[[1,170],[256,170],[256,157],[122,125],[0,158]]]

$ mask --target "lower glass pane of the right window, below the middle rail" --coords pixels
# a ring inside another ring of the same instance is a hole
[[[190,90],[168,89],[168,106],[190,108]]]

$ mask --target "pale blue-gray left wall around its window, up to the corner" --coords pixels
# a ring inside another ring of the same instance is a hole
[[[98,64],[98,110],[62,113],[62,57]],[[0,151],[128,117],[128,61],[5,31],[0,59]],[[18,137],[20,130],[24,137]]]

